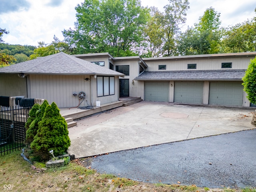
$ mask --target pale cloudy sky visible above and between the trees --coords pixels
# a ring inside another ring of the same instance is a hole
[[[207,8],[220,13],[221,26],[242,23],[256,16],[255,0],[188,0],[186,24],[194,26]],[[50,44],[54,35],[63,40],[62,31],[74,28],[77,4],[83,0],[0,0],[0,28],[9,31],[2,36],[5,43],[38,46]],[[155,6],[164,11],[168,0],[141,0],[142,6]]]

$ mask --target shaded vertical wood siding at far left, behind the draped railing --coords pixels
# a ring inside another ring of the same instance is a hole
[[[0,74],[0,96],[27,97],[26,78],[20,78],[17,74]]]

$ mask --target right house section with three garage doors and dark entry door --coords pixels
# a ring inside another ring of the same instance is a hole
[[[158,58],[112,57],[108,53],[77,58],[125,74],[119,95],[143,100],[223,106],[250,106],[242,77],[256,52]]]

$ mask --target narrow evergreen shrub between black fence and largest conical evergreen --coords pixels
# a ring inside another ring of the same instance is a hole
[[[43,104],[40,106],[39,104],[34,104],[32,109],[29,112],[29,116],[31,119],[25,124],[26,129],[26,142],[30,144],[34,140],[34,136],[38,131],[38,123],[42,120],[44,115],[45,108],[49,105],[47,100],[44,100]],[[33,119],[33,120],[32,120]]]

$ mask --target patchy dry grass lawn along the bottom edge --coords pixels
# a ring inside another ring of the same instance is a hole
[[[44,167],[42,163],[34,165],[37,168]],[[20,152],[0,157],[0,191],[4,189],[16,192],[241,192],[229,188],[210,189],[198,188],[195,185],[137,182],[112,174],[99,174],[96,170],[85,168],[78,160],[63,167],[39,172],[31,169],[30,164],[20,156]],[[256,189],[245,188],[242,192],[256,192]]]

